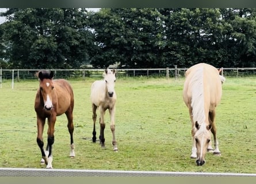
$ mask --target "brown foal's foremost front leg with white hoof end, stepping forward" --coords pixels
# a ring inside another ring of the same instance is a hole
[[[47,147],[49,149],[48,163],[46,168],[52,168],[52,145],[54,144],[54,126],[56,121],[56,114],[52,114],[48,119],[48,138]]]

